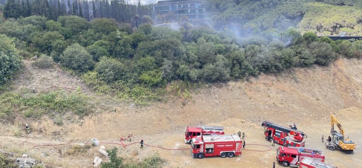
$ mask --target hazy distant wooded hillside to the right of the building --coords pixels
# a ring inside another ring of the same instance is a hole
[[[362,34],[361,0],[210,0],[218,28],[262,31],[289,27],[318,35]]]

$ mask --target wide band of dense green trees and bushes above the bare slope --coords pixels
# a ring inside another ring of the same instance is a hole
[[[244,41],[228,30],[174,31],[147,22],[131,28],[106,18],[89,22],[74,15],[57,21],[36,15],[11,18],[0,24],[0,33],[13,37],[22,56],[51,56],[98,93],[136,101],[158,100],[159,88],[175,80],[218,82],[290,67],[325,66],[341,55],[357,57],[361,46],[318,39],[314,33],[301,35],[293,28],[260,31],[263,39]]]

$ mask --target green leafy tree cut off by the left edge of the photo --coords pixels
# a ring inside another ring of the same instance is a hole
[[[14,42],[0,34],[0,85],[11,80],[21,69],[21,59],[17,54]]]

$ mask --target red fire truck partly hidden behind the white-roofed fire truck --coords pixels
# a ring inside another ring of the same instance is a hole
[[[191,140],[197,136],[224,134],[224,127],[222,126],[187,126],[185,130],[185,143],[191,143]]]

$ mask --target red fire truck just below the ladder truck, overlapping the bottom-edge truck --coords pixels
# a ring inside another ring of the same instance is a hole
[[[276,150],[276,160],[284,167],[299,167],[300,160],[309,157],[324,162],[325,156],[322,150],[304,147],[283,147]]]

